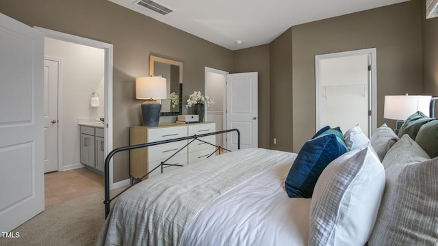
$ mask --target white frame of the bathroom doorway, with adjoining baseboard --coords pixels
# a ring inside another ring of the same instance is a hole
[[[91,40],[89,38],[83,38],[79,36],[74,36],[68,33],[62,33],[60,31],[53,31],[50,29],[45,29],[42,27],[34,27],[38,31],[44,33],[44,36],[47,38],[53,38],[57,40],[62,40],[66,42],[73,42],[75,44],[82,44],[86,46],[92,46],[97,49],[103,49],[105,52],[105,65],[104,65],[104,87],[105,87],[105,128],[104,128],[104,137],[105,137],[105,156],[112,150],[112,54],[113,54],[113,45],[107,44],[105,42],[100,42],[97,40]],[[58,112],[59,113],[59,112]],[[118,187],[124,186],[126,183],[129,184],[129,179],[127,181],[123,180],[114,184],[113,179],[113,161],[110,161],[110,189],[116,189]]]

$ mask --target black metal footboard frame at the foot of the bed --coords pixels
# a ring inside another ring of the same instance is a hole
[[[162,141],[155,141],[155,142],[151,142],[151,143],[141,143],[141,144],[136,144],[136,145],[133,145],[133,146],[125,146],[125,147],[120,147],[120,148],[116,148],[116,149],[112,150],[112,152],[110,152],[107,155],[107,157],[105,158],[105,174],[104,174],[105,175],[105,200],[103,201],[103,204],[105,204],[105,219],[108,217],[108,214],[110,213],[110,203],[112,202],[112,200],[116,199],[116,197],[118,197],[119,195],[121,195],[122,193],[127,191],[129,188],[133,187],[134,185],[138,184],[139,182],[142,182],[143,178],[145,178],[146,176],[151,174],[151,172],[154,172],[156,169],[158,169],[158,167],[161,167],[162,172],[163,172],[164,166],[179,166],[180,167],[181,165],[169,164],[169,163],[166,163],[166,162],[169,161],[169,159],[171,159],[173,156],[175,156],[181,150],[183,150],[184,148],[189,146],[189,144],[192,143],[193,141],[195,141],[195,140],[202,141],[203,143],[207,143],[207,144],[209,144],[211,146],[215,146],[216,147],[216,150],[214,150],[214,152],[209,154],[209,156],[207,156],[207,158],[209,158],[211,155],[213,155],[216,152],[218,152],[220,154],[221,150],[226,150],[227,152],[231,152],[231,150],[227,150],[226,148],[222,148],[221,146],[216,146],[214,144],[211,144],[211,143],[208,143],[206,141],[203,141],[202,139],[199,139],[199,137],[207,137],[207,136],[210,136],[210,135],[218,135],[218,134],[222,134],[222,133],[230,133],[230,132],[233,132],[233,131],[237,132],[237,149],[240,150],[240,131],[238,129],[231,129],[231,130],[225,130],[225,131],[217,131],[217,132],[214,132],[214,133],[204,133],[204,134],[193,135],[193,136],[189,136],[189,137],[179,137],[179,138],[176,138],[176,139],[168,139],[168,140],[162,140]],[[183,140],[188,140],[188,139],[192,139],[192,141],[188,141],[188,143],[185,144],[185,146],[183,146],[177,152],[175,152],[170,157],[168,157],[168,159],[162,161],[159,165],[154,167],[147,174],[144,174],[144,176],[142,176],[141,178],[134,178],[133,180],[131,180],[131,185],[129,185],[129,187],[127,187],[126,189],[124,189],[123,191],[121,191],[120,193],[115,195],[114,197],[112,197],[112,198],[110,197],[110,160],[112,159],[114,154],[116,154],[118,152],[122,152],[122,151],[133,150],[133,149],[137,149],[137,148],[145,148],[145,147],[149,147],[149,146],[156,146],[156,145],[159,145],[159,144],[172,143],[172,142],[175,142],[175,141],[183,141]]]

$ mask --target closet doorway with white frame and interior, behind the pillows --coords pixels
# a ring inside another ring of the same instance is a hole
[[[316,131],[360,124],[370,137],[377,124],[376,49],[315,55]]]

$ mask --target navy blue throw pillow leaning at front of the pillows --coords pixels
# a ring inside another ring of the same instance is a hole
[[[345,143],[344,143],[345,144]],[[322,170],[338,156],[346,152],[345,146],[335,134],[311,139],[302,146],[285,181],[289,197],[312,197],[316,181]]]

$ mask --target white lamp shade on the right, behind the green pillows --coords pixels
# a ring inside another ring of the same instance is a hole
[[[432,96],[385,96],[383,118],[406,120],[416,111],[429,116],[429,104]]]

